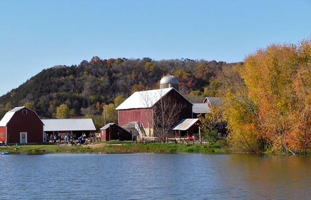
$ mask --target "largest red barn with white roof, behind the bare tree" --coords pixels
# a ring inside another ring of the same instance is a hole
[[[173,87],[140,91],[132,94],[127,100],[121,103],[118,110],[119,126],[137,122],[141,129],[144,129],[148,136],[153,135],[153,125],[151,123],[155,104],[162,98],[171,98],[176,103],[182,105],[179,120],[192,118],[192,103],[181,95]]]

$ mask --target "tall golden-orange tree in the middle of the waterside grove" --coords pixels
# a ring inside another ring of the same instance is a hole
[[[265,138],[277,150],[288,150],[286,134],[291,126],[289,107],[297,65],[295,45],[270,45],[247,56],[242,70],[248,95],[259,106]]]

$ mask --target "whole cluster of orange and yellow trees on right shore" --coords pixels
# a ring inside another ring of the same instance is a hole
[[[223,80],[231,82],[225,87],[229,138],[235,138],[231,141],[255,141],[258,147],[263,144],[270,150],[291,153],[310,150],[310,68],[310,40],[297,45],[273,44],[248,55],[236,72],[244,86],[234,89],[234,76]]]

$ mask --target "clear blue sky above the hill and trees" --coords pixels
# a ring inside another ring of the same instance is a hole
[[[237,62],[310,36],[310,0],[2,0],[0,95],[94,55]]]

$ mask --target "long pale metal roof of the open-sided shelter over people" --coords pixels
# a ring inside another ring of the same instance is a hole
[[[96,131],[90,118],[41,120],[44,123],[44,131]]]

